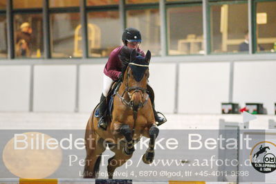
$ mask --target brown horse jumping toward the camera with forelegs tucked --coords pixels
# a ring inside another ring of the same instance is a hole
[[[147,93],[149,77],[149,50],[145,57],[137,56],[136,50],[122,49],[123,79],[114,95],[113,111],[107,117],[109,125],[107,131],[97,127],[99,118],[94,116],[94,109],[86,125],[85,145],[86,163],[84,178],[96,178],[99,172],[102,152],[109,145],[115,153],[108,160],[107,172],[113,178],[113,172],[131,158],[134,152],[134,143],[142,136],[150,138],[149,147],[143,155],[143,162],[152,163],[154,160],[154,144],[158,136],[158,128],[151,107],[151,100]],[[128,54],[126,54],[128,53]]]

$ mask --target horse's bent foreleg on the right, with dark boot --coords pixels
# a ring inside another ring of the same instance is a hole
[[[156,127],[155,124],[152,125],[149,129],[149,148],[142,156],[142,161],[146,164],[150,164],[154,160],[154,144],[158,134],[159,129]]]

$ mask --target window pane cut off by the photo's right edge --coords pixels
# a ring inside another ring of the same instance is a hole
[[[258,2],[256,14],[257,51],[276,52],[276,1]]]

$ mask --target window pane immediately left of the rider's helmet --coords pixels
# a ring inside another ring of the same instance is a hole
[[[122,33],[120,30],[119,12],[89,12],[87,18],[89,56],[109,56],[111,51],[121,44]],[[81,34],[81,31],[79,31],[79,34]],[[77,48],[80,46],[78,44]]]

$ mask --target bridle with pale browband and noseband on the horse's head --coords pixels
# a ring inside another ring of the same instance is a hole
[[[129,63],[129,65],[135,65],[135,66],[142,66],[142,67],[149,67],[149,65],[142,65],[142,64],[135,64],[135,63]],[[128,68],[127,68],[128,70]],[[147,93],[147,89],[138,87],[138,86],[131,86],[129,87],[129,71],[127,71],[127,84],[126,84],[126,88],[125,91],[122,93],[122,95],[119,94],[119,92],[116,92],[116,95],[118,95],[118,97],[120,98],[120,100],[122,101],[123,104],[127,105],[127,107],[131,108],[134,111],[137,111],[138,109],[142,108],[145,106],[145,104],[147,103],[147,100],[149,99],[149,94]],[[122,82],[121,82],[122,83]],[[132,94],[130,93],[131,91],[134,91]],[[142,96],[142,101],[144,100],[144,94],[147,94],[147,97],[145,98],[145,101],[140,103],[138,106],[138,109],[134,109],[134,104],[132,101],[127,102],[127,100],[125,100],[124,95],[125,93],[127,93],[127,95],[129,96],[129,99],[132,98],[132,95],[134,95],[134,93],[140,93],[140,95]]]

